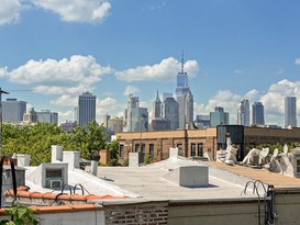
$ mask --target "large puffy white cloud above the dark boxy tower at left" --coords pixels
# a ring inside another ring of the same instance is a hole
[[[92,56],[71,56],[62,60],[29,60],[25,65],[10,71],[9,78],[18,83],[38,83],[45,86],[86,86],[101,80],[103,75],[112,72],[110,67],[100,66]]]

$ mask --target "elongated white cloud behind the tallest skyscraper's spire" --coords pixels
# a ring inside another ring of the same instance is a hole
[[[173,81],[176,79],[179,70],[180,61],[169,57],[163,59],[159,64],[152,66],[138,66],[136,68],[116,71],[115,76],[118,79],[127,82],[142,80]],[[185,63],[185,71],[188,72],[190,77],[196,76],[198,70],[199,64],[196,60],[188,60]]]

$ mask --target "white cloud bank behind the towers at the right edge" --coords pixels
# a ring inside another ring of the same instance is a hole
[[[243,99],[248,99],[252,104],[255,101],[260,101],[265,109],[265,123],[284,125],[285,119],[285,97],[297,97],[297,105],[300,105],[300,81],[280,80],[271,85],[267,92],[259,95],[255,89],[249,90],[245,94],[237,94],[230,90],[218,91],[207,104],[195,103],[195,115],[209,114],[214,111],[215,106],[224,108],[225,112],[230,113],[230,123],[236,124],[236,110],[238,102]],[[298,115],[300,108],[298,106]],[[298,121],[299,116],[298,116]]]

